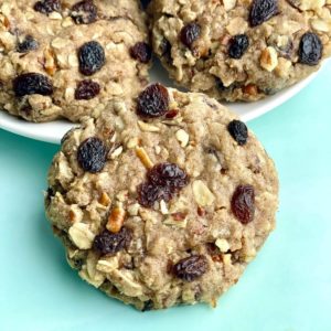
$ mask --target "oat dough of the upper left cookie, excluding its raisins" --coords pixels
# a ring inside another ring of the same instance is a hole
[[[88,24],[77,24],[72,18],[73,7],[81,1],[58,2],[61,11],[45,14],[34,10],[35,0],[0,1],[0,106],[30,121],[58,117],[78,121],[86,115],[98,116],[109,100],[135,96],[148,81],[148,64],[130,56],[130,47],[148,42],[146,17],[138,1],[89,1],[97,15]],[[20,53],[19,44],[26,36],[33,38],[38,47]],[[77,53],[90,41],[103,46],[106,62],[87,77],[79,72]],[[53,94],[17,97],[13,79],[26,73],[47,76]],[[100,92],[90,99],[76,99],[75,90],[85,79],[96,82]]]

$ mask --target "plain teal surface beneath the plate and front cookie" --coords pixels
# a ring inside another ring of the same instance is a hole
[[[331,330],[331,65],[249,126],[280,177],[278,225],[216,309],[137,312],[71,270],[44,217],[57,147],[0,130],[0,330]]]

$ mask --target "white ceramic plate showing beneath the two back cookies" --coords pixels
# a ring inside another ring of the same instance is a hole
[[[274,96],[269,96],[264,100],[250,104],[234,103],[228,104],[228,107],[237,113],[244,121],[248,121],[253,118],[261,116],[267,111],[270,111],[271,109],[284,104],[286,100],[290,99],[302,88],[305,88],[316,77],[316,75],[317,74],[313,74],[305,81],[286,88]],[[151,81],[160,82],[166,86],[173,86],[173,83],[168,78],[167,72],[161,67],[159,62],[156,62],[153,68],[151,70]],[[0,111],[0,128],[17,135],[53,143],[60,143],[61,138],[73,126],[75,125],[65,120],[56,120],[46,124],[33,124],[11,116],[6,111]]]

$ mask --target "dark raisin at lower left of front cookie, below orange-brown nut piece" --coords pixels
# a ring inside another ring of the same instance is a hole
[[[93,248],[103,255],[115,254],[119,250],[128,248],[131,238],[131,231],[125,226],[118,233],[111,233],[105,229],[95,237],[93,242]]]

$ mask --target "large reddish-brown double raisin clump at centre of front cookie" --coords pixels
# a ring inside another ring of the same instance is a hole
[[[168,202],[173,194],[189,183],[186,172],[175,163],[156,164],[147,173],[147,181],[138,186],[138,202],[146,207],[152,207],[161,200]]]

